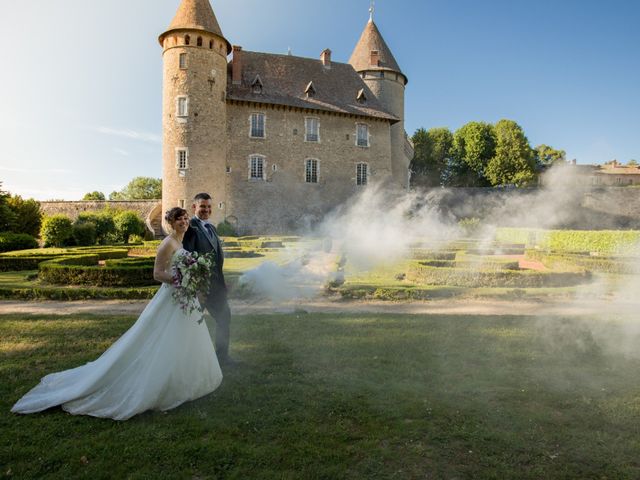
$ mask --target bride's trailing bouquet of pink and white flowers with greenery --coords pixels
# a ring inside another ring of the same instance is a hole
[[[173,301],[186,315],[191,315],[194,310],[200,312],[198,323],[204,320],[204,307],[198,301],[198,294],[209,291],[215,265],[213,252],[198,254],[186,251],[178,255],[173,265]]]

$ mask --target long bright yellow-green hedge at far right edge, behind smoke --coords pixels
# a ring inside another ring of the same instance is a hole
[[[598,252],[640,255],[638,230],[540,230],[498,228],[496,240],[525,243],[550,252]]]

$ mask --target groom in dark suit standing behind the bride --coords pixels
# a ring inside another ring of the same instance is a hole
[[[190,252],[208,253],[213,252],[216,259],[214,273],[211,276],[211,286],[205,300],[205,308],[216,321],[215,344],[218,361],[222,365],[235,363],[229,357],[229,322],[231,320],[231,310],[227,302],[227,286],[222,274],[222,245],[218,233],[213,225],[209,223],[211,216],[211,195],[208,193],[198,193],[193,198],[194,216],[189,222],[189,228],[184,234],[182,245]],[[206,316],[209,333],[214,330],[210,316]]]

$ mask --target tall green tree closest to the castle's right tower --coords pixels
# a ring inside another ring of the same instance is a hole
[[[412,137],[414,156],[411,161],[411,180],[415,185],[442,185],[453,146],[453,134],[448,128],[419,128]]]

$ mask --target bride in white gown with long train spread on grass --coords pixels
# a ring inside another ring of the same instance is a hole
[[[15,413],[60,405],[74,415],[126,420],[145,410],[169,410],[214,391],[222,372],[198,312],[185,314],[172,298],[172,266],[183,251],[186,210],[165,216],[173,232],[158,247],[153,276],[162,286],[138,320],[97,360],[52,373],[22,397]]]

